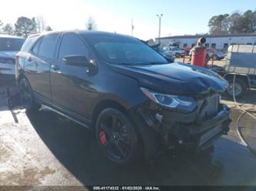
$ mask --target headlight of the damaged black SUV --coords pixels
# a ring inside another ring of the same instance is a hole
[[[141,87],[141,91],[152,101],[165,107],[192,111],[197,106],[197,102],[192,97],[160,94]]]

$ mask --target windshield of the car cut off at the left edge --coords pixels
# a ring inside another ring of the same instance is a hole
[[[21,38],[0,38],[0,51],[19,51],[23,42]]]

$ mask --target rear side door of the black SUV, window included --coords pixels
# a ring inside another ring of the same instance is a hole
[[[32,89],[42,97],[51,99],[50,66],[55,58],[59,34],[39,38],[31,50],[25,65],[26,76]]]

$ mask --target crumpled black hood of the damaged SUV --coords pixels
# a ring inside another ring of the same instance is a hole
[[[112,65],[111,68],[135,78],[141,87],[165,94],[202,95],[211,91],[223,92],[228,87],[228,82],[213,71],[178,62],[138,66]]]

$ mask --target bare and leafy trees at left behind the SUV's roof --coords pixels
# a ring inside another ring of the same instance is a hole
[[[4,23],[0,20],[0,32],[7,35],[17,35],[27,38],[30,34],[42,31],[52,31],[52,28],[45,24],[44,18],[38,16],[36,18],[19,17],[14,25]]]

